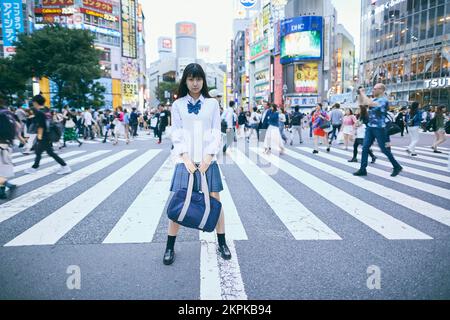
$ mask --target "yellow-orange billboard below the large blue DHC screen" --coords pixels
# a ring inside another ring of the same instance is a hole
[[[317,62],[304,62],[296,64],[294,72],[296,93],[319,93],[319,64]]]

